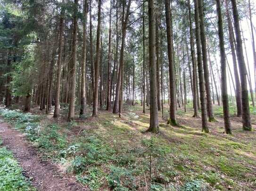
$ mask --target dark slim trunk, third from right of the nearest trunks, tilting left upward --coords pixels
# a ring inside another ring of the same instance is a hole
[[[199,77],[199,89],[200,89],[200,104],[201,104],[201,117],[202,117],[202,131],[209,132],[209,126],[207,122],[207,110],[205,100],[205,83],[203,74],[203,63],[202,63],[202,52],[200,44],[200,23],[198,15],[198,0],[194,0],[195,4],[195,23],[196,23],[196,44],[197,44],[197,55],[198,55],[198,77]]]

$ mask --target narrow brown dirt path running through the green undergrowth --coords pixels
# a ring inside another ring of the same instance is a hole
[[[1,118],[0,118],[1,119]],[[57,165],[41,161],[25,136],[11,125],[0,122],[0,137],[3,145],[10,149],[26,177],[33,177],[32,183],[39,191],[87,191],[74,179],[67,177]]]

